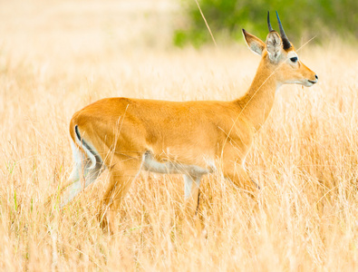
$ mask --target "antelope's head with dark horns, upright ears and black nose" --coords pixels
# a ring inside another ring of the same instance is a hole
[[[266,43],[253,34],[242,30],[248,47],[262,57],[265,67],[276,76],[276,81],[281,84],[296,83],[310,87],[317,83],[318,76],[301,62],[295,47],[285,35],[284,27],[276,12],[280,34],[271,26],[270,15],[267,13],[268,31]]]

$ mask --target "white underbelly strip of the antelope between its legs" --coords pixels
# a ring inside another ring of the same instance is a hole
[[[197,165],[187,165],[172,161],[160,162],[155,160],[150,152],[146,152],[143,155],[143,168],[144,170],[161,174],[186,174],[192,177],[201,177],[214,170],[211,166],[205,169]]]

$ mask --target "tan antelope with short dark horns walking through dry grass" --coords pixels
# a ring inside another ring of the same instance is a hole
[[[267,13],[266,43],[242,30],[248,48],[261,55],[261,61],[247,92],[237,100],[168,102],[116,97],[75,112],[70,123],[74,166],[61,189],[61,207],[105,169],[109,182],[98,214],[108,226],[140,170],[183,174],[185,205],[192,211],[198,209],[202,176],[213,171],[255,195],[259,187],[245,170],[245,158],[271,112],[276,91],[283,84],[310,87],[318,80],[299,60],[277,12],[276,17],[280,34]]]

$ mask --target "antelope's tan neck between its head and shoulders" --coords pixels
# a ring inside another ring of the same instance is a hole
[[[258,131],[265,123],[275,102],[276,90],[281,86],[276,81],[276,74],[261,61],[255,78],[247,93],[236,102],[242,116]]]

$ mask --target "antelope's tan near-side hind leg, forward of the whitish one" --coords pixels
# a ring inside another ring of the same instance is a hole
[[[111,160],[111,166],[108,167],[110,178],[98,207],[102,228],[108,228],[111,232],[114,229],[121,200],[130,189],[131,182],[140,175],[141,165],[140,158],[117,155]]]

